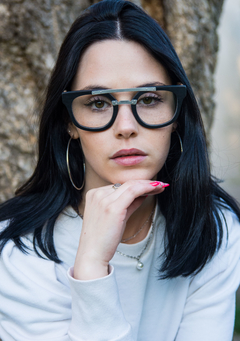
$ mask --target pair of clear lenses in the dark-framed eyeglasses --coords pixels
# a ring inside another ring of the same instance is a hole
[[[177,100],[171,91],[139,92],[138,95],[136,111],[144,123],[164,124],[175,115]],[[73,100],[72,111],[80,125],[99,128],[110,122],[114,106],[112,100],[105,95],[83,95]]]

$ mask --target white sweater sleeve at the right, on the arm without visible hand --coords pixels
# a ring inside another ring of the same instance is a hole
[[[240,283],[240,226],[225,212],[222,246],[204,269],[191,280],[176,341],[231,341],[235,294]]]

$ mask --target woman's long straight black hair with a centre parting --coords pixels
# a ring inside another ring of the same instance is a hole
[[[81,191],[72,186],[67,172],[69,116],[61,93],[71,89],[86,48],[106,39],[138,42],[166,68],[173,84],[187,86],[177,128],[183,153],[173,133],[168,159],[158,174],[158,179],[169,182],[170,187],[158,196],[158,203],[166,218],[160,275],[189,276],[200,271],[221,245],[221,208],[230,207],[239,219],[240,210],[210,175],[201,115],[172,44],[150,16],[123,0],[103,0],[91,6],[73,23],[62,44],[41,115],[36,169],[16,196],[0,206],[0,221],[8,220],[0,234],[1,249],[11,239],[27,252],[21,237],[33,233],[35,251],[40,255],[40,249],[50,260],[60,262],[53,242],[54,224],[66,206],[77,210],[81,201]],[[81,186],[82,154],[76,140],[71,143],[70,160],[74,182]]]

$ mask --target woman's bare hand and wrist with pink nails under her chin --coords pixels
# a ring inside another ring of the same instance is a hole
[[[112,185],[86,194],[84,220],[74,264],[74,278],[90,280],[108,275],[109,261],[122,239],[126,222],[147,195],[164,190],[158,181],[130,180],[117,190]]]

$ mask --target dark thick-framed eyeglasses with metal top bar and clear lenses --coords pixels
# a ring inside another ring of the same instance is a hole
[[[117,101],[113,94],[133,93],[131,100]],[[131,105],[137,122],[149,129],[165,127],[178,118],[186,96],[185,85],[164,85],[131,89],[79,90],[62,93],[73,124],[87,131],[110,128],[118,114],[119,105]]]

